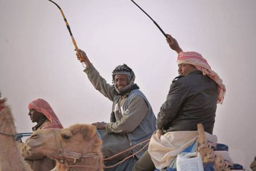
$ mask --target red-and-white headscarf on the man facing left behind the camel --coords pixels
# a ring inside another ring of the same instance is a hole
[[[36,111],[42,113],[46,116],[46,118],[50,121],[50,123],[46,123],[42,129],[46,128],[63,128],[60,120],[55,115],[55,112],[52,110],[52,107],[49,105],[47,101],[44,99],[36,99],[28,104],[28,109],[35,109]]]

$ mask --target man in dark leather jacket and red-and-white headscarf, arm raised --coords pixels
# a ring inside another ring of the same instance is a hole
[[[217,103],[224,99],[225,85],[199,53],[183,52],[171,35],[167,37],[167,43],[178,54],[179,76],[172,81],[158,113],[158,133],[197,131],[197,124],[202,123],[205,132],[212,134]],[[154,170],[151,157],[146,151],[133,170]]]

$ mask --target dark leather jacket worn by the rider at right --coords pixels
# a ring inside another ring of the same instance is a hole
[[[217,108],[217,85],[199,70],[171,84],[158,113],[157,127],[165,131],[196,131],[197,123],[212,134]]]

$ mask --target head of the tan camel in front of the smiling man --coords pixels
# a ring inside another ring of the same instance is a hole
[[[96,127],[75,124],[69,128],[49,128],[35,131],[26,141],[31,151],[42,153],[52,159],[63,159],[63,155],[101,154],[102,141]]]

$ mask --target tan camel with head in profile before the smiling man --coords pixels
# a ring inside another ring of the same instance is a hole
[[[103,170],[102,140],[96,127],[75,124],[69,128],[49,128],[35,131],[26,140],[31,151],[56,160],[53,170]]]

